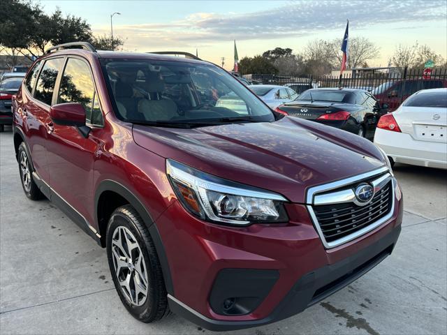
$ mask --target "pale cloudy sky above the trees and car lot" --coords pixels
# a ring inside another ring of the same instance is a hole
[[[429,45],[447,59],[447,0],[297,1],[87,1],[41,0],[47,13],[59,7],[91,24],[94,34],[115,36],[124,50],[186,51],[233,68],[233,40],[239,59],[274,47],[303,52],[309,40],[363,36],[379,45],[369,66],[387,66],[399,44]]]

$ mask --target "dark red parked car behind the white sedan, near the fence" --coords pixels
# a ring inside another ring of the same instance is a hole
[[[409,79],[384,82],[372,90],[372,95],[376,97],[380,104],[388,105],[388,111],[393,112],[411,94],[421,89],[438,89],[447,87],[447,80],[442,79]]]

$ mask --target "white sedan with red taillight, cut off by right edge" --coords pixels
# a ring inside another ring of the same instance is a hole
[[[447,89],[425,89],[377,124],[374,143],[390,162],[447,169]]]

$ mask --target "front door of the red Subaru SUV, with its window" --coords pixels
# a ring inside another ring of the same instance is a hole
[[[87,219],[94,204],[94,157],[101,140],[103,114],[96,94],[94,78],[87,61],[68,57],[54,94],[53,104],[80,103],[91,128],[84,137],[78,127],[52,123],[48,134],[47,159],[51,188]]]

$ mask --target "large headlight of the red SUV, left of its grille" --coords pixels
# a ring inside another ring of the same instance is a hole
[[[166,160],[175,194],[192,214],[230,225],[287,222],[286,198]]]

